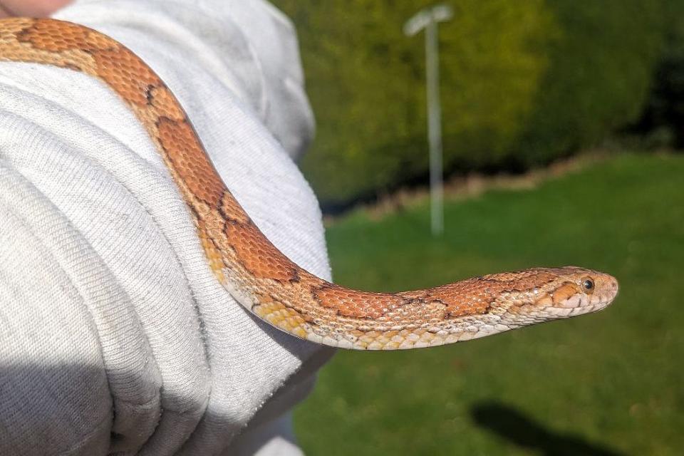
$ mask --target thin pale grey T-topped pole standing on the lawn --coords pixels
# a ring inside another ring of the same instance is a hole
[[[440,54],[437,23],[453,16],[447,5],[418,11],[404,24],[404,33],[413,36],[425,29],[425,79],[427,93],[427,145],[430,151],[430,229],[432,235],[444,232],[444,183],[442,182],[442,108],[440,107]]]

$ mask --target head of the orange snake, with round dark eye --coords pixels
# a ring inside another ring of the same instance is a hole
[[[576,266],[544,272],[556,278],[535,286],[528,302],[529,307],[541,311],[549,320],[600,311],[618,294],[618,281],[603,272]]]

